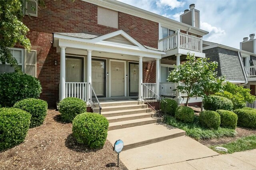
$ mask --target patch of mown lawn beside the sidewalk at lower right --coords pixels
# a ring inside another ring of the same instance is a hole
[[[224,148],[228,149],[228,152],[223,152],[223,151],[218,151],[215,150],[214,147],[216,146],[221,146]],[[256,135],[250,135],[250,136],[246,136],[246,137],[242,137],[234,142],[230,142],[227,144],[222,144],[222,145],[215,145],[215,146],[210,146],[209,148],[211,148],[212,150],[221,153],[221,154],[232,154],[234,152],[241,152],[244,150],[251,150],[251,149],[255,149],[256,148]]]

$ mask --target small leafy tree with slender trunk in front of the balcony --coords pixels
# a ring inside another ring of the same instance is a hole
[[[192,96],[206,97],[222,89],[222,82],[225,77],[218,77],[215,69],[218,67],[216,61],[208,62],[208,58],[197,58],[194,54],[188,53],[187,61],[184,64],[175,66],[168,76],[168,81],[183,85],[176,87],[181,93],[187,93],[188,99]]]

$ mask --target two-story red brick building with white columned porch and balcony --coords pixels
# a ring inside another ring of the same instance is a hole
[[[142,100],[149,88],[180,97],[173,83],[171,91],[171,83],[161,83],[187,52],[205,57],[202,37],[208,32],[200,29],[194,4],[181,16],[186,24],[116,0],[45,1],[46,8],[35,11],[30,5],[23,22],[32,53],[19,45],[12,53],[22,71],[40,80],[40,98],[49,106],[69,96],[88,101],[89,83],[97,97]],[[10,71],[0,65],[0,73]]]

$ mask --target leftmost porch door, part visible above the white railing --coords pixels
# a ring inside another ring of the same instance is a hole
[[[66,57],[66,82],[83,82],[82,61],[82,58]]]

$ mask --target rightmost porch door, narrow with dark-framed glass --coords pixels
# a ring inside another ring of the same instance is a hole
[[[129,63],[129,96],[139,94],[139,63]]]

